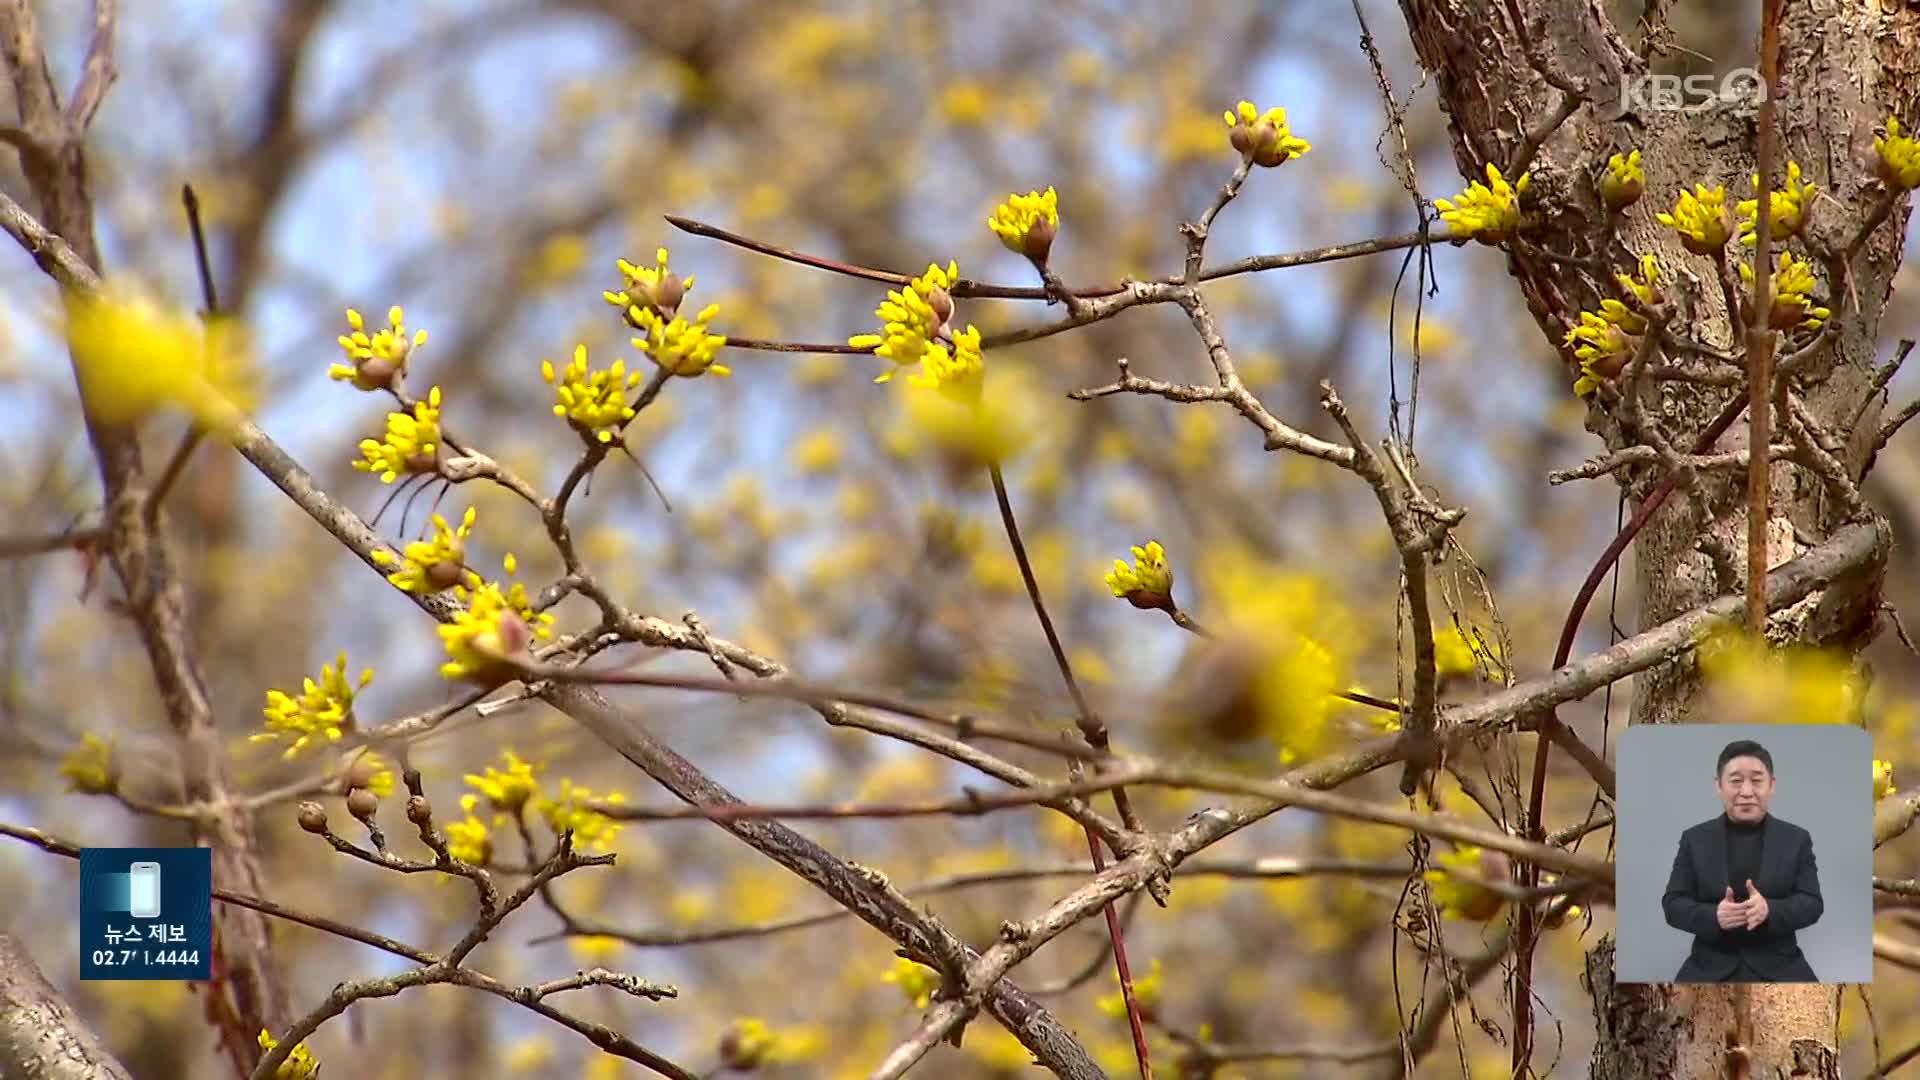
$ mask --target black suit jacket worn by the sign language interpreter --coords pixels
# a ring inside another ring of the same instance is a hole
[[[1745,882],[1726,880],[1726,824],[1722,817],[1703,821],[1680,834],[1674,869],[1667,878],[1661,907],[1667,924],[1693,934],[1674,982],[1726,982],[1740,961],[1747,961],[1763,982],[1818,982],[1799,949],[1799,930],[1820,920],[1820,876],[1812,861],[1812,836],[1791,822],[1768,815],[1761,834],[1761,872],[1755,888],[1766,897],[1766,922],[1753,930],[1722,930],[1715,909],[1734,884],[1734,899],[1745,899]]]

